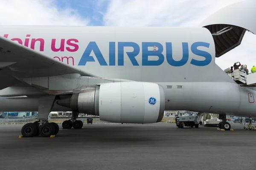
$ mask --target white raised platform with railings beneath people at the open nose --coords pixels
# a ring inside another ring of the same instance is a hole
[[[240,69],[230,71],[230,68],[224,70],[235,82],[241,84],[241,86],[256,87],[256,73],[250,73],[246,75],[246,72]]]

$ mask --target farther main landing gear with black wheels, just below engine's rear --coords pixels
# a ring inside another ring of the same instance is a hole
[[[74,129],[81,129],[83,127],[83,122],[81,120],[76,120],[78,118],[79,112],[73,111],[72,118],[70,120],[65,120],[62,123],[63,129],[70,129],[73,127]]]

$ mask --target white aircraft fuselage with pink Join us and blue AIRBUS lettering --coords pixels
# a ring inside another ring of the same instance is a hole
[[[94,77],[157,83],[165,110],[256,117],[256,88],[240,87],[216,65],[207,28],[1,26],[0,36]],[[0,97],[0,111],[37,110],[36,96]],[[52,109],[69,110],[56,104]]]

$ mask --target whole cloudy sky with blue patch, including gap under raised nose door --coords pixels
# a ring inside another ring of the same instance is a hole
[[[243,0],[0,0],[1,25],[198,26],[224,6]],[[216,63],[256,65],[256,35]]]

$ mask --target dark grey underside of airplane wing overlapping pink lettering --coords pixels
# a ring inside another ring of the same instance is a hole
[[[93,76],[17,42],[0,37],[0,90],[19,84],[20,81],[15,77],[50,77],[72,73]]]

